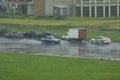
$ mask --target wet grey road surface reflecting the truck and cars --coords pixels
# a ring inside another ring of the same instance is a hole
[[[45,44],[30,39],[0,38],[1,52],[15,52],[35,55],[55,55],[76,58],[109,58],[120,60],[120,43],[112,42],[109,45],[92,45],[88,41],[70,43],[61,41],[60,44]]]

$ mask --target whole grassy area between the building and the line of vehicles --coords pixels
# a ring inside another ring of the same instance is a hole
[[[57,32],[59,36],[66,34],[71,27],[85,27],[87,29],[87,40],[104,35],[112,41],[120,41],[120,18],[79,18],[67,17],[62,19],[35,18],[33,16],[3,16],[0,18],[0,29],[7,28],[11,31],[26,32],[36,30],[42,32]],[[96,32],[96,30],[99,30]],[[101,32],[101,30],[103,32]],[[106,31],[111,31],[107,33]],[[114,31],[114,32],[113,32]]]

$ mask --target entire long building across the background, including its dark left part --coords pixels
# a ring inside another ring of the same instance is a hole
[[[120,0],[7,0],[7,13],[34,16],[119,17]]]

